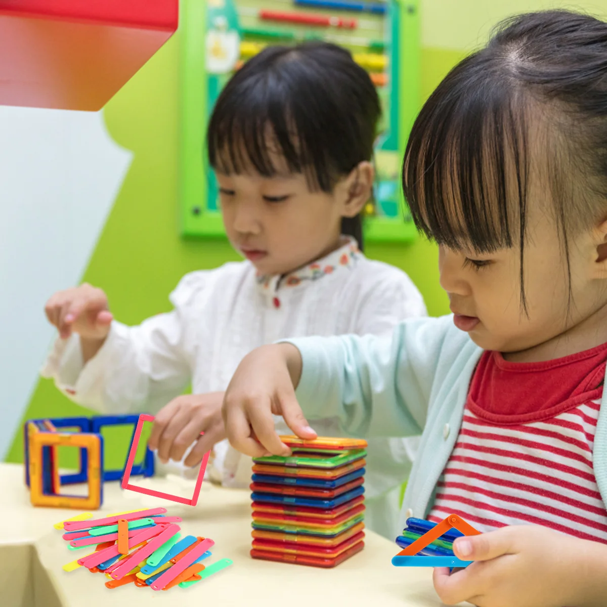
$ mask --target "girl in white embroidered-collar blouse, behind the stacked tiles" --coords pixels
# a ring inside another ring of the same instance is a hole
[[[89,285],[55,294],[46,313],[60,339],[44,375],[93,409],[156,414],[149,445],[161,461],[181,461],[205,432],[186,466],[217,443],[212,475],[247,487],[251,461],[222,441],[221,416],[245,354],[282,337],[381,334],[426,313],[402,271],[361,251],[380,114],[370,77],[344,49],[270,47],[250,59],[208,129],[226,234],[246,260],[188,274],[171,295],[174,310],[138,327],[113,320],[103,291]],[[178,396],[190,382],[194,395]],[[339,432],[331,420],[323,429]],[[375,439],[368,448],[366,523],[388,537],[410,447]]]

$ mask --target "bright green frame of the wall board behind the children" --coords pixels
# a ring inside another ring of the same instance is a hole
[[[398,141],[399,158],[420,100],[420,23],[419,0],[392,0],[398,11],[398,49],[392,61],[398,61]],[[181,236],[189,238],[225,238],[220,212],[209,211],[208,178],[204,163],[208,117],[208,83],[205,77],[206,1],[181,0],[181,61],[179,90],[178,206]],[[393,32],[394,34],[395,32]],[[392,111],[394,104],[390,105]],[[390,146],[393,148],[393,146]],[[384,148],[385,149],[385,148]],[[400,189],[400,188],[399,188]],[[401,207],[407,207],[401,197]],[[364,220],[365,242],[413,242],[417,235],[411,221],[401,218],[368,217]]]

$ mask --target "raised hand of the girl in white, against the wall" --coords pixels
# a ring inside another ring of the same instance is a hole
[[[86,283],[58,291],[48,300],[44,311],[62,339],[67,339],[73,332],[82,339],[103,344],[112,324],[106,294]]]

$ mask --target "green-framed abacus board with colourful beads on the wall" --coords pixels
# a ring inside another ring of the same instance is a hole
[[[415,240],[399,169],[420,104],[418,4],[419,0],[208,0],[205,12],[197,0],[183,0],[182,235],[225,234],[214,172],[200,163],[206,132],[201,107],[210,116],[231,75],[265,47],[314,39],[350,50],[369,73],[381,100],[383,122],[375,148],[378,178],[373,200],[364,210],[365,239]],[[200,66],[206,72],[202,81]]]

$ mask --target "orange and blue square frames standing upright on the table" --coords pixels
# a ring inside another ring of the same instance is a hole
[[[103,503],[104,481],[120,480],[126,469],[126,463],[121,469],[104,469],[101,429],[106,426],[133,426],[134,438],[139,420],[138,415],[118,415],[30,419],[25,422],[25,484],[30,487],[33,506],[97,510]],[[59,472],[59,447],[76,447],[79,450],[78,472]],[[146,449],[143,463],[133,466],[131,462],[131,474],[154,475],[154,454],[151,450]],[[87,484],[87,495],[61,493],[62,486],[78,483]]]

